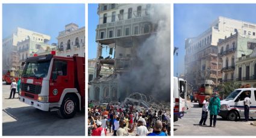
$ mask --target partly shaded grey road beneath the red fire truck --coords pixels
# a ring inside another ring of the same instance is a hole
[[[3,136],[84,136],[84,112],[71,119],[58,118],[57,112],[44,112],[18,100],[8,99],[10,85],[2,85]]]

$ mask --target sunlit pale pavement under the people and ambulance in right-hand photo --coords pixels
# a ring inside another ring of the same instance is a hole
[[[199,126],[202,108],[198,107],[198,103],[189,103],[190,108],[184,114],[182,119],[174,122],[174,136],[256,136],[256,126],[250,125],[248,122],[242,121],[226,121],[217,116],[216,127]],[[210,115],[206,122],[210,125]]]

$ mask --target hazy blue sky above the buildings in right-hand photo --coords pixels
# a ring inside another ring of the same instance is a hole
[[[217,19],[218,16],[256,23],[256,4],[174,4],[173,37],[178,47],[174,56],[173,75],[184,73],[185,39],[196,37]]]

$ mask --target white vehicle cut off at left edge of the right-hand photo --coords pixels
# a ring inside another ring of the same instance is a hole
[[[184,116],[187,109],[187,81],[178,77],[173,77],[173,120]]]

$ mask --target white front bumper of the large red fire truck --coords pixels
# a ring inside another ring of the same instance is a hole
[[[28,104],[30,106],[36,107],[37,109],[49,111],[50,103],[41,103],[39,101],[31,100],[26,97],[19,96],[19,101],[22,103]]]

